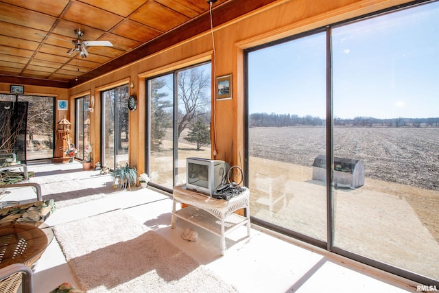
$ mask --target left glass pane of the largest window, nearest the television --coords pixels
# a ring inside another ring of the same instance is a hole
[[[326,241],[326,35],[248,54],[250,212]],[[316,173],[316,174],[315,174]]]

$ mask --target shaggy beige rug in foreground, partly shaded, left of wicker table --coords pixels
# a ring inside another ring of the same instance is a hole
[[[54,227],[86,292],[237,292],[122,210]]]

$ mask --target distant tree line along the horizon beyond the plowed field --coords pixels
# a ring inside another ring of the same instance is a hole
[[[326,119],[311,115],[299,116],[276,113],[250,114],[250,127],[289,127],[289,126],[324,126]],[[439,128],[439,117],[431,118],[388,118],[355,117],[333,119],[334,126],[361,126],[361,127],[413,127]]]

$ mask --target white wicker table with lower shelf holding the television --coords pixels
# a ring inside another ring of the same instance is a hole
[[[241,194],[230,200],[219,200],[195,191],[187,190],[185,185],[174,187],[171,228],[176,227],[176,218],[182,218],[221,237],[221,254],[226,254],[226,234],[239,226],[247,225],[250,236],[250,191],[246,187]],[[176,211],[176,203],[189,204],[189,207]],[[246,217],[234,213],[246,209]]]

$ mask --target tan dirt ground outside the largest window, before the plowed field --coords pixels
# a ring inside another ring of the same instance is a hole
[[[250,210],[262,220],[327,239],[324,183],[312,168],[250,157]],[[365,178],[334,190],[334,244],[439,279],[439,191]]]

